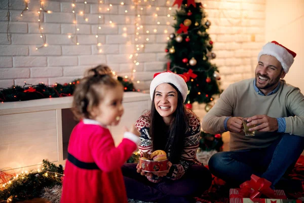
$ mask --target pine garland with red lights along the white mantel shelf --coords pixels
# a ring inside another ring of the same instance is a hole
[[[132,81],[123,79],[122,77],[118,77],[117,79],[124,86],[124,91],[135,91]],[[64,83],[63,85],[55,83],[54,85],[47,86],[43,83],[38,85],[25,83],[23,87],[13,85],[10,88],[0,88],[0,102],[71,96],[75,89],[75,85],[79,83],[79,80],[80,79],[73,80],[72,82]]]

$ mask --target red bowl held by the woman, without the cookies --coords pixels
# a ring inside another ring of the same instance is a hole
[[[162,161],[152,161],[152,160],[145,160],[145,159],[139,159],[139,168],[141,171],[144,172],[164,172],[167,171],[167,163],[168,159],[162,160]]]

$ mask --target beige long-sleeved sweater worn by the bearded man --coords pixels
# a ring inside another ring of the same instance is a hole
[[[229,116],[268,115],[285,118],[285,133],[304,136],[304,96],[299,88],[281,80],[276,93],[263,96],[254,90],[253,81],[254,79],[243,80],[223,91],[214,107],[203,118],[203,130],[213,134],[226,131],[224,120]],[[254,137],[246,137],[244,132],[230,134],[231,150],[267,147],[280,135],[276,131],[256,132]]]

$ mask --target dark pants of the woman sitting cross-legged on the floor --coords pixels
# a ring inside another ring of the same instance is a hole
[[[192,165],[178,180],[163,178],[152,183],[136,172],[137,163],[125,163],[122,167],[127,196],[131,199],[153,202],[190,202],[189,197],[201,195],[211,186],[211,173],[202,165]]]

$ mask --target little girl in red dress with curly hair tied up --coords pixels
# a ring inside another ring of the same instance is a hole
[[[63,203],[128,202],[121,166],[136,150],[139,133],[132,126],[115,147],[106,126],[119,123],[124,113],[124,90],[107,69],[97,66],[89,70],[73,94],[72,111],[80,122],[68,144]]]

